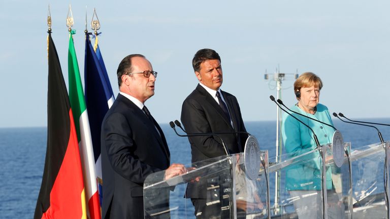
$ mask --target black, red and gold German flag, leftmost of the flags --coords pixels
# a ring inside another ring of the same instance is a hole
[[[48,53],[47,150],[34,218],[86,218],[79,144],[50,31]]]

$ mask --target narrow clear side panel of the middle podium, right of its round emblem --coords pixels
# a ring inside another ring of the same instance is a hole
[[[344,143],[339,166],[334,161],[332,144],[322,146],[327,173],[327,215],[328,218],[352,218],[352,181],[350,143]],[[344,157],[344,159],[342,159]]]

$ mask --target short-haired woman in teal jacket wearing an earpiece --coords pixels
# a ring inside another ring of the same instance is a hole
[[[321,79],[312,72],[305,72],[294,83],[297,104],[291,110],[321,122],[333,125],[328,108],[319,102],[322,88]],[[321,145],[331,143],[334,129],[314,120],[293,113],[295,117],[313,129]],[[316,148],[313,133],[305,125],[288,114],[283,115],[282,138],[286,153],[291,157],[301,155]],[[286,189],[294,198],[294,207],[300,219],[321,218],[321,170],[322,160],[319,153],[307,162],[291,166],[286,170]],[[328,218],[344,218],[342,202],[335,193],[332,182],[332,169],[326,169]]]

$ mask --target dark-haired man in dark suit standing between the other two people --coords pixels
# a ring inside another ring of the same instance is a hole
[[[246,132],[236,97],[220,90],[222,67],[218,53],[212,49],[201,49],[194,55],[192,66],[199,84],[182,105],[181,121],[187,133]],[[219,136],[230,154],[244,151],[247,134]],[[188,140],[191,144],[192,162],[225,155],[222,143],[216,136],[188,137]],[[223,203],[213,201],[210,197],[222,197],[226,194],[222,189],[215,194],[209,194],[210,190],[207,190],[207,187],[222,184],[223,181],[226,180],[219,176],[188,185],[186,195],[191,198],[197,218],[223,217],[220,214]],[[221,185],[218,186],[222,188]]]

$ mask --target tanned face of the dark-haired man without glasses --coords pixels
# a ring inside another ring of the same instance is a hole
[[[195,71],[200,83],[206,87],[218,90],[222,85],[222,66],[218,59],[205,60],[201,63],[201,68]]]

